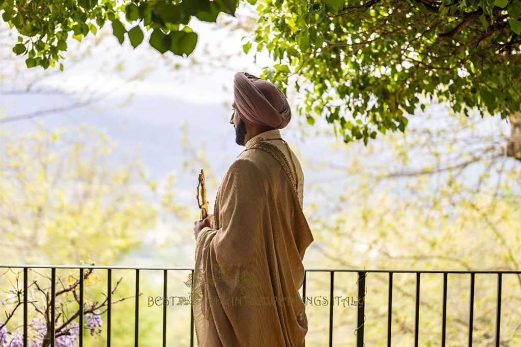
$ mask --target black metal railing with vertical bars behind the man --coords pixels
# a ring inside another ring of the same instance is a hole
[[[79,346],[83,346],[83,288],[84,288],[84,270],[85,269],[101,269],[107,272],[107,347],[110,347],[111,337],[111,293],[112,293],[112,271],[117,270],[133,270],[135,271],[135,313],[134,313],[134,345],[137,347],[139,342],[139,288],[140,288],[140,271],[162,271],[163,272],[163,297],[167,297],[167,275],[169,271],[190,271],[193,275],[193,268],[182,267],[127,267],[127,266],[95,266],[95,265],[75,265],[75,266],[58,266],[58,265],[0,265],[1,268],[18,268],[23,269],[23,345],[27,346],[28,341],[28,269],[46,268],[51,269],[51,322],[55,322],[56,310],[56,269],[77,269],[79,271]],[[414,317],[414,346],[418,346],[419,337],[419,309],[420,309],[420,278],[421,274],[442,274],[443,275],[443,303],[442,303],[442,333],[441,345],[446,343],[446,312],[447,312],[447,284],[449,274],[470,275],[470,307],[469,307],[469,324],[468,324],[468,345],[473,344],[473,325],[474,325],[474,287],[476,274],[489,274],[497,276],[497,301],[496,301],[496,317],[495,317],[495,337],[494,345],[500,345],[501,331],[501,286],[502,276],[505,274],[521,275],[521,271],[416,271],[416,270],[369,270],[369,269],[306,269],[304,274],[304,282],[302,286],[302,300],[306,300],[306,278],[308,273],[329,273],[330,274],[330,300],[329,300],[329,346],[333,345],[333,288],[335,273],[354,273],[357,274],[357,317],[356,317],[356,346],[364,346],[364,325],[365,325],[365,295],[366,295],[366,276],[369,273],[388,274],[388,317],[387,317],[387,345],[391,346],[391,327],[392,327],[392,299],[393,299],[393,274],[416,274],[416,294],[415,294],[415,317]],[[192,276],[193,278],[193,276]],[[191,302],[191,301],[190,301]],[[166,347],[166,331],[167,331],[167,305],[163,305],[163,346]],[[194,345],[194,325],[193,310],[191,310],[190,318],[190,346]],[[50,343],[49,346],[55,347],[55,324],[51,324]]]

